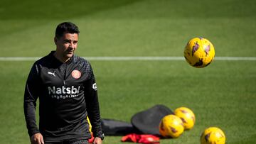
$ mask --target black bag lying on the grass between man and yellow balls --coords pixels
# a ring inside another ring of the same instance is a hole
[[[131,123],[114,119],[102,119],[102,131],[105,135],[127,135],[131,133],[160,135],[159,123],[166,115],[174,114],[164,105],[156,105],[131,118]]]

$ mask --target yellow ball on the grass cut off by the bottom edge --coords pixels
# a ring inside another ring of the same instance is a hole
[[[220,128],[206,128],[201,135],[201,144],[225,144],[225,134]]]

